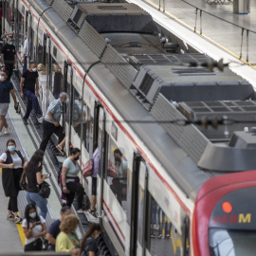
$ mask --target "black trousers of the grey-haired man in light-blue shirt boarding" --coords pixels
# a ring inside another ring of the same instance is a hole
[[[48,122],[46,120],[43,121],[43,139],[41,141],[39,149],[46,151],[47,143],[52,136],[52,134],[55,134],[59,137],[59,144],[64,139],[64,129],[61,125],[55,126],[53,123]]]

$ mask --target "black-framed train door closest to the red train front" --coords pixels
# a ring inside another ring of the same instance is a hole
[[[131,206],[130,255],[145,255],[147,243],[148,170],[143,158],[135,153]]]

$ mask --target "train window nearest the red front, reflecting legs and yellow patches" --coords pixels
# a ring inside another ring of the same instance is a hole
[[[181,236],[173,229],[171,221],[153,197],[151,201],[150,228],[150,252],[152,256],[180,255]],[[172,238],[172,242],[170,238]]]

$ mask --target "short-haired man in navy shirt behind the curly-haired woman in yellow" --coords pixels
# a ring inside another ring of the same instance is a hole
[[[57,238],[58,234],[61,232],[60,225],[63,222],[64,218],[69,214],[71,214],[70,207],[63,204],[63,207],[61,209],[61,218],[54,221],[51,224],[51,226],[46,234],[46,239],[50,243],[49,250],[55,251],[56,238]]]

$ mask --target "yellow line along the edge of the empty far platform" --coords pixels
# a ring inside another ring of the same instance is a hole
[[[154,5],[157,9],[159,9],[159,6],[157,6],[157,5],[156,5],[154,2],[152,2],[151,0],[142,0],[142,1],[150,2],[150,3],[151,3],[152,5]],[[186,24],[185,22],[179,20],[176,16],[174,16],[174,14],[170,13],[168,10],[164,10],[164,9],[162,9],[162,8],[160,8],[160,10],[161,10],[162,12],[167,13],[168,15],[172,16],[175,20],[177,20],[179,23],[182,23],[184,26],[189,27],[189,28],[191,28],[192,30],[194,30],[193,27],[191,27],[191,26],[189,26],[188,24]],[[256,66],[255,66],[255,65],[248,63],[246,60],[244,60],[244,59],[242,59],[242,58],[240,59],[240,57],[239,57],[238,55],[236,55],[235,53],[231,52],[231,51],[230,51],[229,49],[227,49],[226,47],[219,45],[218,43],[216,43],[215,41],[213,41],[212,39],[210,39],[208,36],[204,35],[203,33],[200,34],[199,31],[197,31],[197,30],[195,30],[195,31],[196,31],[199,35],[201,35],[202,37],[204,37],[204,38],[206,38],[207,40],[209,40],[209,41],[210,41],[211,43],[213,43],[214,45],[216,45],[216,46],[222,48],[223,50],[225,50],[226,52],[228,52],[230,55],[232,55],[233,57],[235,57],[235,58],[238,59],[239,61],[241,61],[241,62],[243,62],[244,64],[247,64],[247,65],[249,65],[250,67],[256,69]]]

